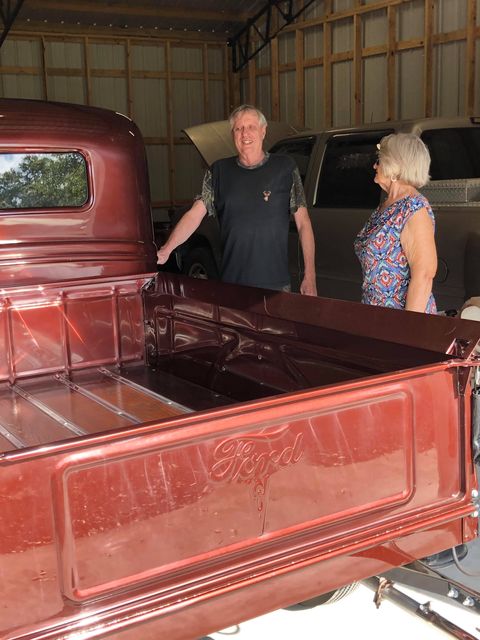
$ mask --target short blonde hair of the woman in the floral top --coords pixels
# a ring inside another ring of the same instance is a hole
[[[382,173],[390,180],[402,180],[423,187],[430,176],[430,153],[413,133],[392,133],[380,140],[378,158]]]

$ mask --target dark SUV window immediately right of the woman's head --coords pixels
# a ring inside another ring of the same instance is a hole
[[[430,151],[432,180],[480,178],[480,127],[430,129],[421,138]]]

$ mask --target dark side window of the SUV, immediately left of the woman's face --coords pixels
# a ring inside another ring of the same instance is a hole
[[[373,181],[377,144],[389,131],[333,135],[326,144],[315,207],[375,208],[380,187]]]

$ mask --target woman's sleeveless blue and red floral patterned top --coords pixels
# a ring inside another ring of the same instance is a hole
[[[377,207],[355,240],[355,253],[363,271],[362,302],[404,309],[410,283],[410,267],[400,234],[416,211],[425,208],[435,225],[433,211],[421,194],[406,196],[389,207]],[[426,313],[436,312],[432,294]]]

